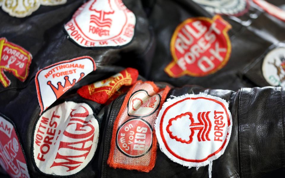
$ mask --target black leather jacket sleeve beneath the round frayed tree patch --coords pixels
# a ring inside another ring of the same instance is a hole
[[[213,177],[262,177],[274,175],[284,168],[284,89],[281,87],[243,88],[237,92],[184,86],[170,90],[168,98],[200,92],[229,102],[232,134],[220,158],[213,161]],[[102,178],[109,177],[208,177],[208,166],[196,171],[172,162],[157,149],[156,164],[149,173],[113,169],[107,165],[113,122],[124,96],[101,111],[103,138],[100,146]],[[274,103],[274,104],[273,104]],[[105,124],[104,124],[105,123]],[[159,148],[159,147],[158,147]],[[100,162],[99,162],[100,165]],[[267,173],[267,174],[266,174]]]

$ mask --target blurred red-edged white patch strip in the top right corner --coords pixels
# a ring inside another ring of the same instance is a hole
[[[253,2],[259,7],[261,7],[263,10],[265,10],[265,12],[267,12],[268,14],[285,21],[285,11],[280,9],[279,7],[270,4],[269,2],[264,0],[253,0]]]

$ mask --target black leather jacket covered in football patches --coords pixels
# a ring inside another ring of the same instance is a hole
[[[261,65],[266,51],[284,41],[285,36],[280,31],[284,31],[285,23],[254,7],[240,17],[223,16],[232,25],[229,31],[232,54],[228,64],[205,77],[170,78],[164,68],[172,60],[170,39],[177,25],[189,17],[212,18],[213,14],[186,0],[123,2],[134,12],[136,26],[131,43],[121,48],[86,49],[67,38],[64,24],[82,5],[81,0],[54,7],[41,6],[22,19],[10,17],[0,10],[0,37],[22,46],[33,56],[25,82],[5,72],[11,85],[7,88],[0,85],[0,113],[15,124],[29,176],[55,177],[42,174],[33,161],[34,127],[40,117],[36,73],[56,62],[87,55],[94,59],[97,69],[49,107],[65,101],[85,102],[99,122],[99,141],[93,159],[84,169],[67,177],[208,177],[208,166],[188,169],[171,161],[159,149],[158,143],[156,163],[149,172],[113,169],[107,164],[114,121],[126,94],[105,106],[80,97],[77,89],[108,78],[126,67],[138,69],[138,80],[155,81],[160,88],[170,86],[167,98],[202,92],[229,102],[232,134],[224,154],[213,161],[212,177],[284,177],[284,88],[263,87],[269,84],[262,77]],[[284,4],[277,0],[272,3]],[[251,19],[250,15],[254,13],[257,17]],[[245,25],[248,20],[251,20],[250,25]],[[1,167],[0,177],[8,177]]]

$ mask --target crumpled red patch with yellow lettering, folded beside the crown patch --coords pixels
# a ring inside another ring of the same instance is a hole
[[[138,75],[137,69],[126,68],[105,80],[81,87],[77,93],[85,99],[104,104],[121,86],[133,85]]]

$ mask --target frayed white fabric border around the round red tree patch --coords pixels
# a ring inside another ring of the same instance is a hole
[[[227,128],[227,142],[226,144],[224,145],[223,149],[217,153],[216,155],[213,155],[211,156],[210,158],[208,158],[206,161],[203,161],[203,162],[200,162],[200,163],[194,163],[194,162],[186,162],[186,161],[183,161],[183,160],[180,160],[178,158],[176,158],[175,156],[173,156],[171,153],[169,153],[167,151],[167,149],[165,148],[164,146],[164,143],[162,141],[162,138],[160,136],[160,130],[159,130],[159,123],[160,123],[160,120],[161,120],[161,117],[162,117],[162,114],[164,112],[164,110],[172,105],[173,103],[179,101],[179,100],[183,100],[185,98],[191,98],[191,97],[207,97],[207,98],[211,98],[211,99],[214,99],[214,100],[218,100],[220,102],[222,102],[225,107],[226,107],[226,110],[229,114],[229,120],[230,120],[230,126],[228,126]],[[172,96],[171,95],[171,98],[168,98],[166,100],[166,102],[164,102],[164,104],[162,105],[162,108],[161,110],[159,111],[159,114],[158,116],[156,117],[156,121],[155,121],[155,126],[154,126],[154,129],[155,129],[155,133],[156,133],[156,138],[157,138],[157,141],[159,142],[159,148],[160,150],[168,157],[170,158],[173,162],[175,163],[178,163],[178,164],[181,164],[183,166],[186,166],[188,168],[191,168],[191,167],[199,167],[200,166],[207,166],[209,165],[209,172],[210,172],[210,167],[212,167],[212,165],[210,165],[212,163],[213,160],[216,160],[218,159],[222,154],[224,154],[224,151],[229,143],[229,139],[231,137],[231,133],[232,133],[232,114],[231,112],[229,111],[229,102],[227,102],[226,100],[220,98],[220,97],[215,97],[215,96],[212,96],[212,95],[209,95],[209,94],[206,94],[206,93],[199,93],[199,94],[183,94],[181,96],[178,96],[178,97],[175,97],[175,96]]]

